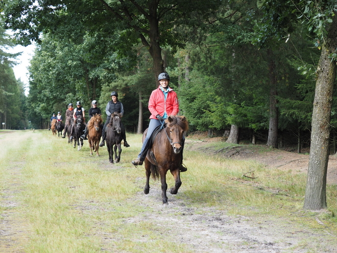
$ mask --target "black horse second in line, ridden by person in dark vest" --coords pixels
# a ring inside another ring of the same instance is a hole
[[[122,118],[121,113],[117,113],[116,111],[112,113],[110,116],[110,122],[105,129],[106,143],[110,163],[113,163],[113,152],[115,152],[115,162],[118,163],[119,160],[121,160],[121,153],[122,153],[121,142],[123,140],[121,118]],[[117,155],[117,148],[118,148],[118,155]]]

